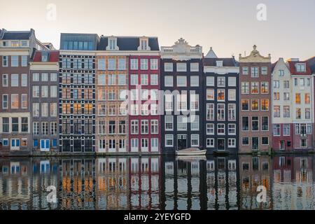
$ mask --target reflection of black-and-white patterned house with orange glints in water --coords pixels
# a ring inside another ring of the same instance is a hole
[[[63,159],[62,188],[59,195],[63,209],[95,209],[94,159]]]

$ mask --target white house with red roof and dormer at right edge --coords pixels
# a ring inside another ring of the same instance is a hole
[[[293,148],[297,152],[314,149],[314,76],[307,61],[289,59],[292,78]]]

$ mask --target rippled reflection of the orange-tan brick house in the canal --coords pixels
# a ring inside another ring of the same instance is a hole
[[[127,158],[97,158],[96,209],[128,209]]]

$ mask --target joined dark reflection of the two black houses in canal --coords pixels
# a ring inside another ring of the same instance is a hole
[[[237,209],[237,158],[165,158],[162,209]]]

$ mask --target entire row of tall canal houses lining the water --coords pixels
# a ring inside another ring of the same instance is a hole
[[[315,57],[33,29],[0,29],[0,56],[1,155],[314,150]]]

